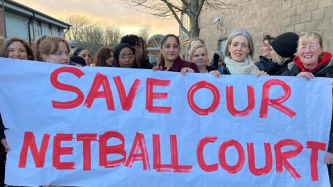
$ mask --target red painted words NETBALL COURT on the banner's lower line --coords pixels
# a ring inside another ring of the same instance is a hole
[[[76,135],[76,137],[74,137],[74,135]],[[161,163],[161,146],[164,145],[160,143],[160,136],[160,134],[153,134],[151,136],[153,147],[147,148],[144,134],[137,132],[130,151],[126,152],[126,139],[120,132],[109,131],[99,136],[97,134],[56,134],[56,136],[53,137],[53,146],[49,145],[49,140],[51,139],[50,134],[44,134],[42,144],[38,145],[38,147],[40,147],[38,151],[33,132],[25,132],[22,150],[19,154],[19,168],[26,168],[28,150],[30,150],[33,160],[35,161],[35,167],[43,168],[46,150],[51,149],[53,152],[51,162],[56,170],[80,170],[82,168],[83,170],[89,171],[91,170],[92,162],[91,144],[94,141],[98,141],[99,152],[97,154],[99,154],[99,166],[103,168],[117,168],[121,165],[131,168],[133,163],[139,162],[142,164],[143,170],[151,170],[150,161],[153,160],[153,169],[157,172],[191,172],[194,163],[187,163],[187,159],[180,160],[178,158],[178,137],[175,134],[169,135],[170,145],[167,145],[170,147],[171,160],[169,163]],[[110,139],[117,139],[121,143],[108,145],[107,142]],[[298,154],[306,148],[311,150],[311,154],[307,159],[309,168],[311,168],[311,180],[318,181],[318,152],[325,151],[325,143],[307,141],[306,145],[302,145],[302,143],[293,139],[283,139],[274,145],[266,142],[262,143],[260,146],[264,146],[265,152],[258,154],[255,153],[254,143],[246,143],[246,148],[244,148],[239,141],[232,139],[223,141],[221,145],[219,145],[218,154],[211,155],[213,154],[212,152],[206,152],[206,155],[210,154],[210,156],[216,157],[216,163],[206,163],[204,148],[205,146],[214,144],[218,139],[219,138],[216,136],[207,136],[200,139],[197,143],[196,151],[191,154],[192,157],[196,157],[197,163],[195,164],[200,166],[203,172],[214,172],[220,168],[230,174],[235,174],[244,169],[249,170],[255,176],[267,175],[273,170],[273,157],[275,157],[274,168],[276,172],[282,172],[285,168],[294,179],[298,179],[302,176],[297,172],[296,168],[289,163],[288,159],[297,157]],[[82,142],[83,166],[77,166],[75,161],[60,161],[62,155],[73,154],[73,147],[61,146],[63,141]],[[293,149],[288,151],[282,150],[282,148],[288,146],[291,146]],[[238,157],[237,163],[234,166],[230,166],[228,157],[225,155],[228,148],[235,148],[237,150],[237,154],[233,155],[233,157]],[[148,150],[153,152],[153,159],[148,157]],[[274,152],[272,150],[274,150]],[[107,157],[108,154],[119,154],[121,159],[109,160]],[[255,157],[265,158],[265,166],[261,168],[257,167]],[[248,161],[248,168],[243,167],[245,160]]]

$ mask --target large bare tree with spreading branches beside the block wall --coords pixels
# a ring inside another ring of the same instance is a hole
[[[223,10],[234,8],[245,1],[250,0],[123,0],[130,8],[137,8],[141,12],[146,12],[157,17],[173,17],[178,22],[180,28],[189,35],[190,38],[198,37],[200,33],[199,15],[203,7],[207,9]],[[191,23],[191,28],[186,28],[182,23],[181,16],[187,15]]]

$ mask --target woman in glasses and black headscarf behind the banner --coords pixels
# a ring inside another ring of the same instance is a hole
[[[126,43],[118,44],[114,48],[114,60],[116,60],[116,67],[133,68],[135,49]]]

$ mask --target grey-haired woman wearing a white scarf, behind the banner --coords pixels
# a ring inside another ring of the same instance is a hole
[[[267,75],[264,71],[259,71],[252,57],[255,53],[253,39],[247,30],[237,29],[228,37],[224,51],[224,62],[226,65],[224,74],[231,75]],[[210,73],[219,77],[219,71]]]

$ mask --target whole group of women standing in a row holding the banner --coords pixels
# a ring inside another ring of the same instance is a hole
[[[125,41],[126,39],[123,39]],[[129,39],[130,40],[130,39]],[[138,40],[135,40],[135,44]],[[102,47],[90,57],[87,48],[78,48],[74,55],[83,57],[83,63],[78,66],[114,66],[122,68],[142,68],[135,62],[136,59],[146,59],[144,55],[144,40],[142,51],[133,44],[122,42],[114,51],[109,47]],[[140,42],[139,41],[139,42]],[[22,60],[38,60],[61,64],[70,64],[69,44],[61,37],[41,37],[35,42],[33,49],[23,40],[18,38],[9,39],[2,47],[0,56]],[[305,77],[307,80],[315,77],[333,78],[332,53],[323,51],[323,39],[318,33],[283,33],[278,37],[266,35],[262,40],[262,56],[260,61],[254,63],[253,55],[255,48],[253,37],[247,30],[238,29],[230,34],[224,50],[225,66],[210,66],[207,48],[202,39],[194,39],[189,45],[189,61],[180,58],[180,41],[176,35],[166,35],[160,46],[161,60],[153,71],[176,71],[185,73],[211,73],[217,78],[220,75],[288,75]],[[139,57],[137,56],[139,54]],[[297,55],[296,55],[297,54]],[[92,61],[92,62],[91,62]],[[1,134],[0,134],[1,135]],[[330,133],[330,143],[325,162],[333,163],[333,133]],[[3,143],[9,150],[6,142]],[[329,170],[330,171],[330,170]]]

